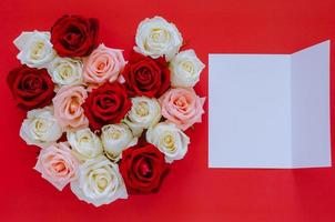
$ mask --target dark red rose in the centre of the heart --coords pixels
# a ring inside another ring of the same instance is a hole
[[[124,87],[119,82],[105,82],[93,89],[83,103],[83,109],[92,130],[103,125],[119,123],[131,109]]]

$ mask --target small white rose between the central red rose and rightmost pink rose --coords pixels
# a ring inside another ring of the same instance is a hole
[[[161,105],[154,98],[136,97],[131,100],[132,108],[123,122],[130,127],[135,137],[139,137],[143,129],[148,129],[161,120]]]

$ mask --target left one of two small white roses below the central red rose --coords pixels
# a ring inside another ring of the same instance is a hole
[[[97,158],[103,153],[100,138],[89,128],[78,131],[68,131],[67,138],[73,154],[81,161]]]

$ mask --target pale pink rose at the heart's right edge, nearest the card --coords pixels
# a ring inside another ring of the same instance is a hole
[[[205,98],[197,97],[191,88],[170,89],[160,98],[162,115],[181,130],[201,122],[204,102]]]

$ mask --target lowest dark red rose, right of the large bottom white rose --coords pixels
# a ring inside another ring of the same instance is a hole
[[[146,143],[122,152],[120,172],[129,193],[152,193],[159,191],[169,168],[163,153]]]

